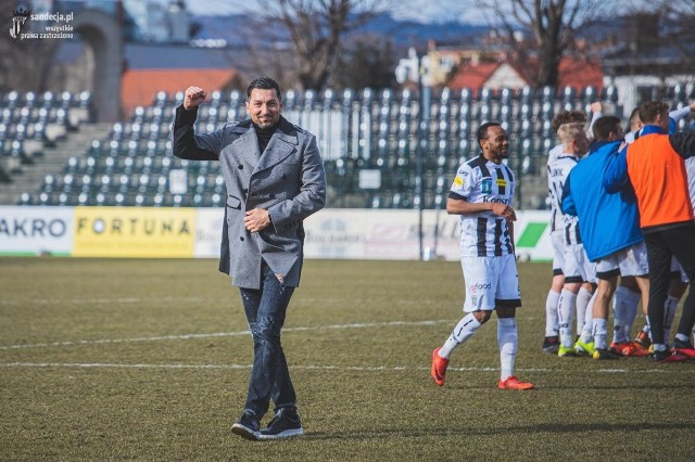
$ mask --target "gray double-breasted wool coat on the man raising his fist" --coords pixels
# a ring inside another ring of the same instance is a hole
[[[227,187],[219,270],[232,284],[261,286],[262,260],[287,286],[300,282],[304,228],[302,220],[326,205],[326,172],[316,137],[280,116],[265,151],[251,120],[229,123],[195,134],[198,110],[176,110],[174,155],[219,161]],[[266,208],[273,223],[257,233],[243,224],[247,210]]]

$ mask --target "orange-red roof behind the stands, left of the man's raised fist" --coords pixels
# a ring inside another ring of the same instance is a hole
[[[235,69],[128,69],[121,82],[123,114],[128,117],[137,106],[150,105],[159,91],[174,94],[194,85],[210,93],[237,77]]]

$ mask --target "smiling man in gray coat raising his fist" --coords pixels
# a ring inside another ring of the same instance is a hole
[[[258,78],[247,89],[251,119],[195,134],[206,92],[186,90],[176,110],[174,155],[219,161],[227,187],[219,270],[241,292],[254,355],[247,403],[231,431],[248,439],[302,435],[280,330],[302,270],[302,220],[326,205],[326,172],[316,138],[285,119],[278,84]],[[260,421],[270,399],[275,416]]]

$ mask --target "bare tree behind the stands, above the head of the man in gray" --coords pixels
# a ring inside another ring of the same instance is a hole
[[[261,14],[253,24],[263,30],[268,53],[292,55],[301,89],[320,90],[328,82],[337,59],[343,51],[343,39],[364,25],[379,11],[383,0],[260,0]],[[280,26],[277,28],[277,26]],[[257,39],[257,37],[256,37]],[[257,51],[255,52],[257,55]],[[256,60],[258,61],[258,60]],[[276,66],[278,60],[269,59]]]

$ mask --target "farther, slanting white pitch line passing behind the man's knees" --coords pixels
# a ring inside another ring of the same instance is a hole
[[[351,324],[329,324],[319,326],[298,326],[298,328],[285,328],[282,332],[304,332],[304,331],[320,331],[320,330],[341,330],[341,329],[368,329],[368,328],[391,328],[391,326],[419,326],[419,325],[435,325],[441,323],[451,323],[451,320],[439,321],[389,321],[389,322],[366,322],[366,323],[351,323]],[[135,337],[135,338],[102,338],[96,341],[72,341],[72,342],[53,342],[45,344],[29,344],[29,345],[8,345],[0,346],[0,350],[11,349],[25,349],[25,348],[50,348],[50,347],[64,347],[64,346],[77,346],[77,345],[104,345],[104,344],[123,344],[123,343],[136,343],[136,342],[161,342],[161,341],[187,341],[193,338],[212,338],[212,337],[233,337],[239,335],[249,335],[249,331],[237,332],[214,332],[207,334],[182,334],[182,335],[161,335],[153,337]]]

